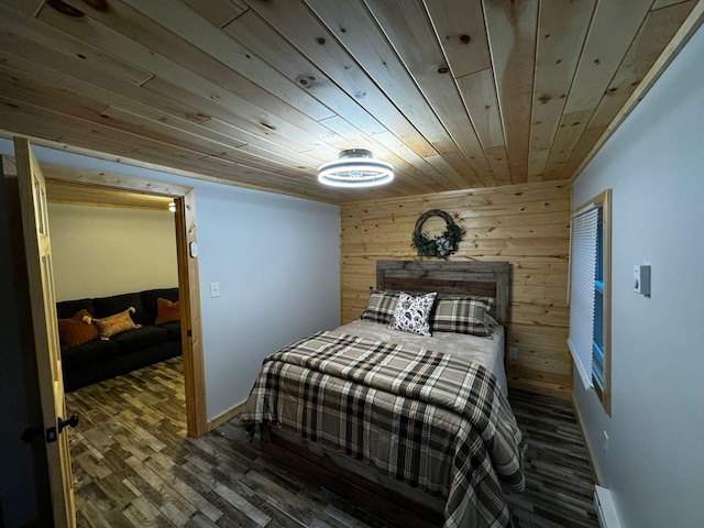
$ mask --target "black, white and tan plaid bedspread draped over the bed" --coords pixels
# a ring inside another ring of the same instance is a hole
[[[242,425],[294,428],[447,497],[446,527],[505,527],[499,481],[522,491],[524,438],[482,365],[318,332],[264,360]]]

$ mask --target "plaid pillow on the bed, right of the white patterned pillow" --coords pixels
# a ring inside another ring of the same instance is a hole
[[[438,299],[430,316],[430,330],[487,338],[491,336],[487,316],[493,306],[493,297],[470,295]]]

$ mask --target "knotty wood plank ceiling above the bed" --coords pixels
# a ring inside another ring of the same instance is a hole
[[[0,0],[0,129],[344,202],[570,179],[704,0]],[[340,190],[343,148],[394,164]]]

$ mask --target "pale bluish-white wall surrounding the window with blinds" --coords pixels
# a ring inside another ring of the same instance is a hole
[[[627,528],[704,519],[703,65],[700,29],[573,186],[573,206],[614,189],[612,417],[573,397]],[[644,263],[650,298],[631,289]]]

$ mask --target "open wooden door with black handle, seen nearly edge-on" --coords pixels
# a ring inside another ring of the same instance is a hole
[[[74,527],[76,505],[68,435],[63,431],[67,417],[54,297],[46,182],[28,140],[14,139],[14,155],[54,524],[59,528]]]

